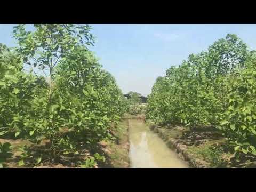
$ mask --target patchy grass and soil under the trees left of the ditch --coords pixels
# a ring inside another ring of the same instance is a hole
[[[69,156],[61,156],[61,161],[58,163],[58,165],[65,165],[68,167],[77,167],[79,162],[83,159],[86,159],[86,157],[91,156],[92,154],[99,153],[105,154],[106,158],[109,160],[108,162],[98,162],[98,165],[100,167],[128,167],[129,166],[129,140],[128,140],[128,121],[127,119],[123,119],[117,126],[111,127],[111,130],[113,131],[115,135],[115,139],[113,140],[107,140],[107,147],[104,149],[107,149],[107,152],[105,153],[105,150],[102,150],[102,148],[95,147],[95,149],[87,149],[86,146],[79,148],[79,154],[75,157],[69,157]],[[69,130],[60,130],[62,132],[67,132]],[[26,162],[26,165],[18,166],[18,162],[20,160],[20,147],[27,146],[31,149],[31,152],[33,154],[37,154],[38,150],[42,152],[42,150],[47,150],[46,141],[43,140],[40,145],[33,145],[33,143],[29,142],[28,140],[22,140],[22,139],[0,139],[1,143],[10,142],[12,145],[11,153],[13,154],[12,158],[9,158],[6,162],[7,167],[33,167],[34,164],[30,165],[29,162]],[[99,149],[98,149],[99,148]],[[95,150],[95,151],[94,151]],[[43,152],[42,162],[38,165],[42,166],[56,166],[57,162],[49,162],[47,159],[48,151]],[[79,158],[78,158],[79,157]],[[101,166],[102,165],[102,166]]]

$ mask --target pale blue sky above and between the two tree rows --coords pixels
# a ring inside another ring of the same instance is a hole
[[[14,46],[14,25],[0,24],[0,43]],[[147,95],[155,79],[191,53],[206,50],[214,41],[236,34],[256,49],[256,25],[91,25],[97,43],[91,50],[103,68],[116,78],[124,93]],[[28,26],[28,29],[31,29]]]

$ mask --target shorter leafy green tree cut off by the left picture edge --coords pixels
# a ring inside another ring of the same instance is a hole
[[[31,107],[35,78],[22,71],[22,64],[17,53],[0,53],[0,135],[18,132],[18,126],[23,127],[21,118]]]

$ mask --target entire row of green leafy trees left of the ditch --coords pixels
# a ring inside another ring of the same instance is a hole
[[[14,27],[15,49],[0,44],[0,136],[35,145],[47,140],[46,157],[58,162],[60,156],[78,155],[81,145],[93,148],[111,139],[110,124],[127,107],[114,77],[87,48],[94,43],[90,26],[34,27]],[[0,166],[9,150],[9,143],[0,145]],[[33,166],[46,158],[45,151],[22,150],[19,165]]]

